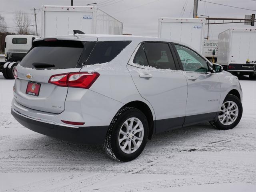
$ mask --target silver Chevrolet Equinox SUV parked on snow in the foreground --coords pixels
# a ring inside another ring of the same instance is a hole
[[[35,132],[102,143],[130,161],[153,134],[198,122],[234,128],[238,78],[180,42],[111,35],[40,38],[14,70],[12,115]]]

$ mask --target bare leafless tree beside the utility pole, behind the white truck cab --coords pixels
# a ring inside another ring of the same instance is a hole
[[[14,14],[14,22],[18,26],[18,34],[29,34],[28,27],[30,26],[31,22],[28,14],[23,13],[21,10],[16,11]]]

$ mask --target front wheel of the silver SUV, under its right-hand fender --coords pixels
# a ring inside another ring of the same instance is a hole
[[[224,99],[218,117],[216,120],[210,121],[210,124],[220,130],[232,129],[240,122],[242,114],[243,106],[240,99],[228,94]]]

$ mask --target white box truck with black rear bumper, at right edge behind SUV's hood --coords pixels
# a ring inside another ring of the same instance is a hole
[[[220,33],[218,64],[233,74],[256,78],[256,28],[230,28]]]

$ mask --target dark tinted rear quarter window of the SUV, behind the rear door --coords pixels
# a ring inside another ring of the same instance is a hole
[[[130,44],[131,41],[100,41],[97,42],[85,65],[110,62]]]

